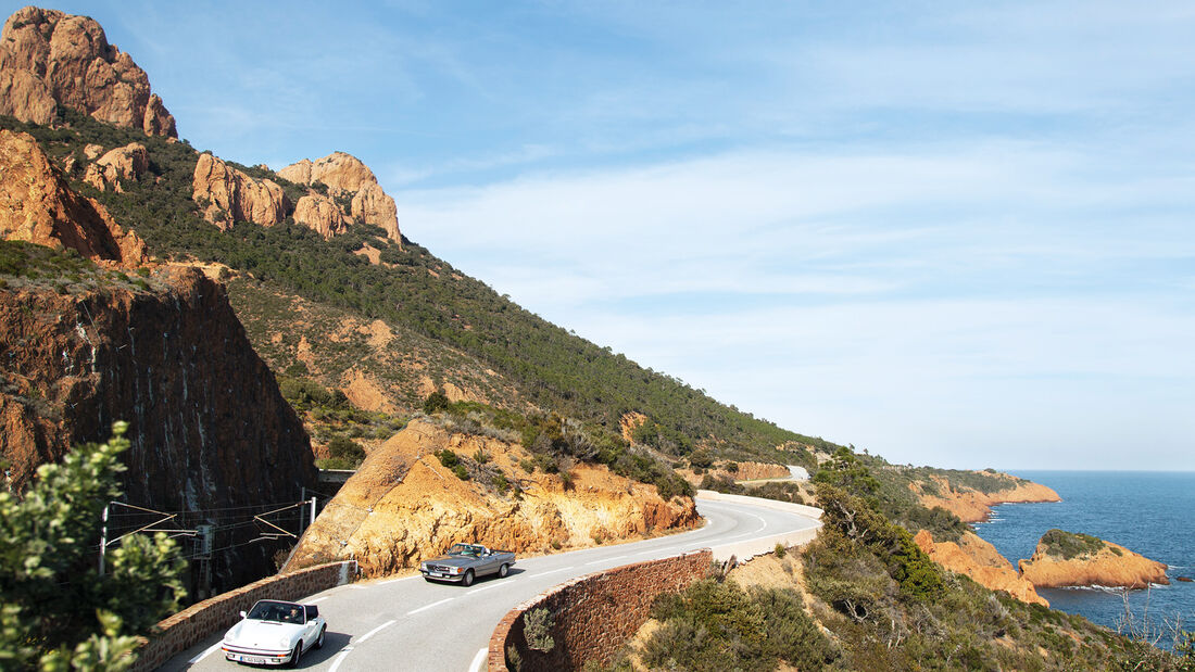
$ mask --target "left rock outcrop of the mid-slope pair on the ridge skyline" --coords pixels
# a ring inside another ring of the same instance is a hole
[[[212,154],[200,154],[191,180],[191,198],[203,208],[203,217],[228,230],[235,222],[272,227],[286,218],[286,193],[272,180],[256,180],[228,167]]]

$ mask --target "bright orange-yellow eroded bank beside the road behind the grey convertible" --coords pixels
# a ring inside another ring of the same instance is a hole
[[[436,458],[443,449],[486,452],[485,467],[501,470],[511,489],[501,494],[479,479],[460,480]],[[565,489],[554,474],[525,471],[519,462],[526,457],[517,444],[415,420],[369,454],[306,532],[290,567],[353,556],[366,574],[381,575],[417,567],[456,542],[545,553],[698,522],[691,499],[663,501],[655,487],[592,466],[576,467]]]

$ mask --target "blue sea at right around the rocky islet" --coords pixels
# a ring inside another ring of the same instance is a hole
[[[1034,554],[1037,540],[1059,528],[1119,543],[1170,566],[1170,585],[1147,590],[1040,588],[1052,608],[1078,614],[1111,628],[1126,629],[1126,598],[1132,622],[1146,624],[1170,648],[1172,628],[1195,630],[1195,471],[1009,471],[1049,486],[1060,503],[1001,504],[986,523],[973,525],[1007,557]]]

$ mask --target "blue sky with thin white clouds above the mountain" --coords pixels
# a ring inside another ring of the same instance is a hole
[[[721,401],[901,463],[1195,469],[1190,4],[59,8],[197,148],[355,154],[405,235]]]

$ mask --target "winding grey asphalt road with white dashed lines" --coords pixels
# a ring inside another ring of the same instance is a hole
[[[713,547],[723,553],[753,540],[809,537],[820,523],[752,498],[698,500],[706,519],[699,530],[643,542],[519,560],[505,579],[480,579],[472,587],[429,584],[421,577],[351,584],[305,598],[329,623],[321,651],[302,670],[449,671],[483,668],[484,649],[497,622],[519,603],[552,586],[620,565]],[[773,503],[774,504],[774,503]],[[760,542],[756,541],[756,545]],[[221,633],[222,635],[222,633]],[[229,670],[220,635],[184,652],[159,670]],[[250,667],[245,667],[250,670]]]

